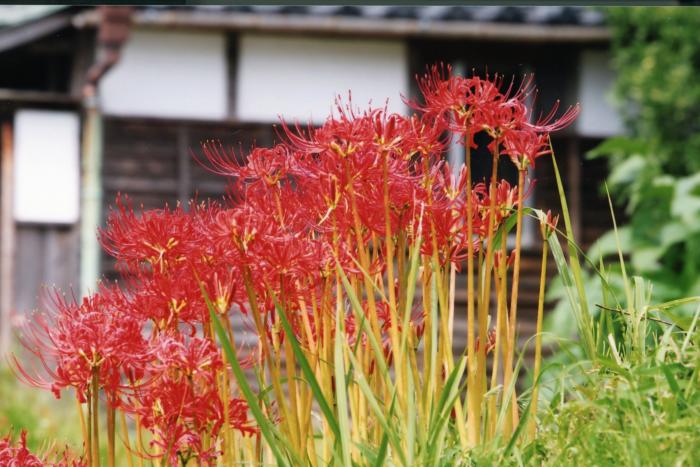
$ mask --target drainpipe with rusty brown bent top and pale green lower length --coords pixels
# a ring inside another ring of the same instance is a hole
[[[80,293],[94,292],[100,279],[100,244],[97,228],[102,222],[102,114],[98,84],[120,58],[131,25],[131,7],[98,7],[100,22],[97,54],[83,87],[82,190],[80,205]]]

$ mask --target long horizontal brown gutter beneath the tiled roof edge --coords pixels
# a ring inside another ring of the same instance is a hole
[[[291,34],[326,34],[371,37],[428,37],[476,39],[494,42],[574,42],[610,41],[610,31],[601,26],[483,23],[476,21],[435,21],[348,16],[276,15],[191,10],[137,11],[134,25],[166,28],[265,31]],[[96,27],[97,12],[77,15],[77,28]]]

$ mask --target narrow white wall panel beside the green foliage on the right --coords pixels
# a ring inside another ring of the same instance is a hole
[[[607,137],[624,133],[619,113],[610,104],[615,73],[607,51],[584,50],[579,62],[578,95],[581,114],[576,129],[581,136]]]

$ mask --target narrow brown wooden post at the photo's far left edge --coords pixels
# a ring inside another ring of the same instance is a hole
[[[2,124],[0,172],[0,354],[10,348],[11,318],[14,307],[15,221],[12,209],[13,161],[12,124]]]

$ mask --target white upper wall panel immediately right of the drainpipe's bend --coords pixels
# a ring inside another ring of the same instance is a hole
[[[137,29],[100,83],[111,115],[226,118],[228,77],[223,33]]]

